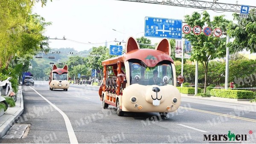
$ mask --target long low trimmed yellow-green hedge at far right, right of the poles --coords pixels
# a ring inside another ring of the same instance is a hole
[[[237,99],[253,99],[254,93],[252,91],[232,90],[232,89],[212,89],[210,91],[212,96],[220,98],[237,98]]]

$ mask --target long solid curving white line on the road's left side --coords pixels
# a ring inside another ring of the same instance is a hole
[[[33,89],[31,86],[29,86],[31,89]],[[40,95],[42,98],[44,98],[43,95],[41,95],[40,93],[38,93],[35,89],[33,89],[38,95]],[[46,98],[44,98],[45,101],[47,101],[52,107],[54,107],[56,110],[58,110],[58,112],[62,115],[62,117],[64,118],[66,127],[67,127],[67,134],[68,137],[70,139],[70,144],[78,144],[78,141],[76,139],[76,135],[75,132],[73,130],[73,127],[70,123],[69,118],[67,117],[67,115],[61,111],[61,109],[59,109],[58,107],[56,107],[54,104],[52,104],[50,101],[48,101]]]

